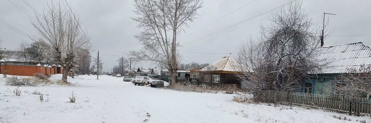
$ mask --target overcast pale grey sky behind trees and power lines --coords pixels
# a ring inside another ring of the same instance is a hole
[[[22,0],[10,1],[14,4],[16,4],[14,2],[16,1],[27,11],[33,13],[32,9]],[[198,30],[250,1],[253,0],[205,0],[204,7],[198,10],[200,14],[198,19],[194,23],[189,24],[190,27],[186,29],[185,33],[181,33],[180,37]],[[27,0],[27,2],[39,13],[47,6],[46,0]],[[50,3],[50,0],[48,2]],[[132,12],[134,7],[131,4],[131,0],[67,0],[67,2],[79,14],[80,20],[83,22],[83,28],[88,29],[92,34],[92,44],[96,49],[99,49],[99,53],[105,64],[105,71],[108,71],[108,69],[116,64],[116,60],[120,57],[119,55],[124,55],[123,52],[141,47],[133,37],[133,35],[137,34],[138,29],[135,27],[134,21],[130,19],[130,17],[134,16]],[[253,1],[249,5],[178,41],[181,44],[185,44],[197,40],[198,38],[265,13],[288,2],[289,0]],[[34,32],[34,28],[29,21],[30,18],[16,6],[8,0],[1,0],[0,6],[1,20],[6,21],[25,33]],[[329,17],[329,26],[335,29],[332,35],[371,34],[371,0],[303,0],[302,6],[305,8],[305,12],[308,13],[309,17],[318,21],[318,23],[321,23],[324,12],[336,14],[335,16],[326,16],[326,20]],[[277,12],[278,10],[273,10],[273,12]],[[241,42],[246,41],[246,38],[250,38],[250,36],[256,38],[259,32],[259,25],[269,23],[269,17],[271,17],[271,13],[263,14],[178,49],[182,51],[209,53],[238,52]],[[21,41],[29,41],[26,37],[1,24],[0,38],[4,41],[2,47],[7,49],[16,49]],[[371,46],[371,36],[329,37],[325,40],[325,45],[354,42],[363,42]],[[233,57],[236,55],[180,53],[185,59],[182,61],[183,63],[200,62],[200,64],[206,62],[212,63],[221,57]],[[96,53],[92,53],[92,55],[96,55]],[[151,65],[143,63],[137,64],[134,67],[138,66],[149,67]]]

